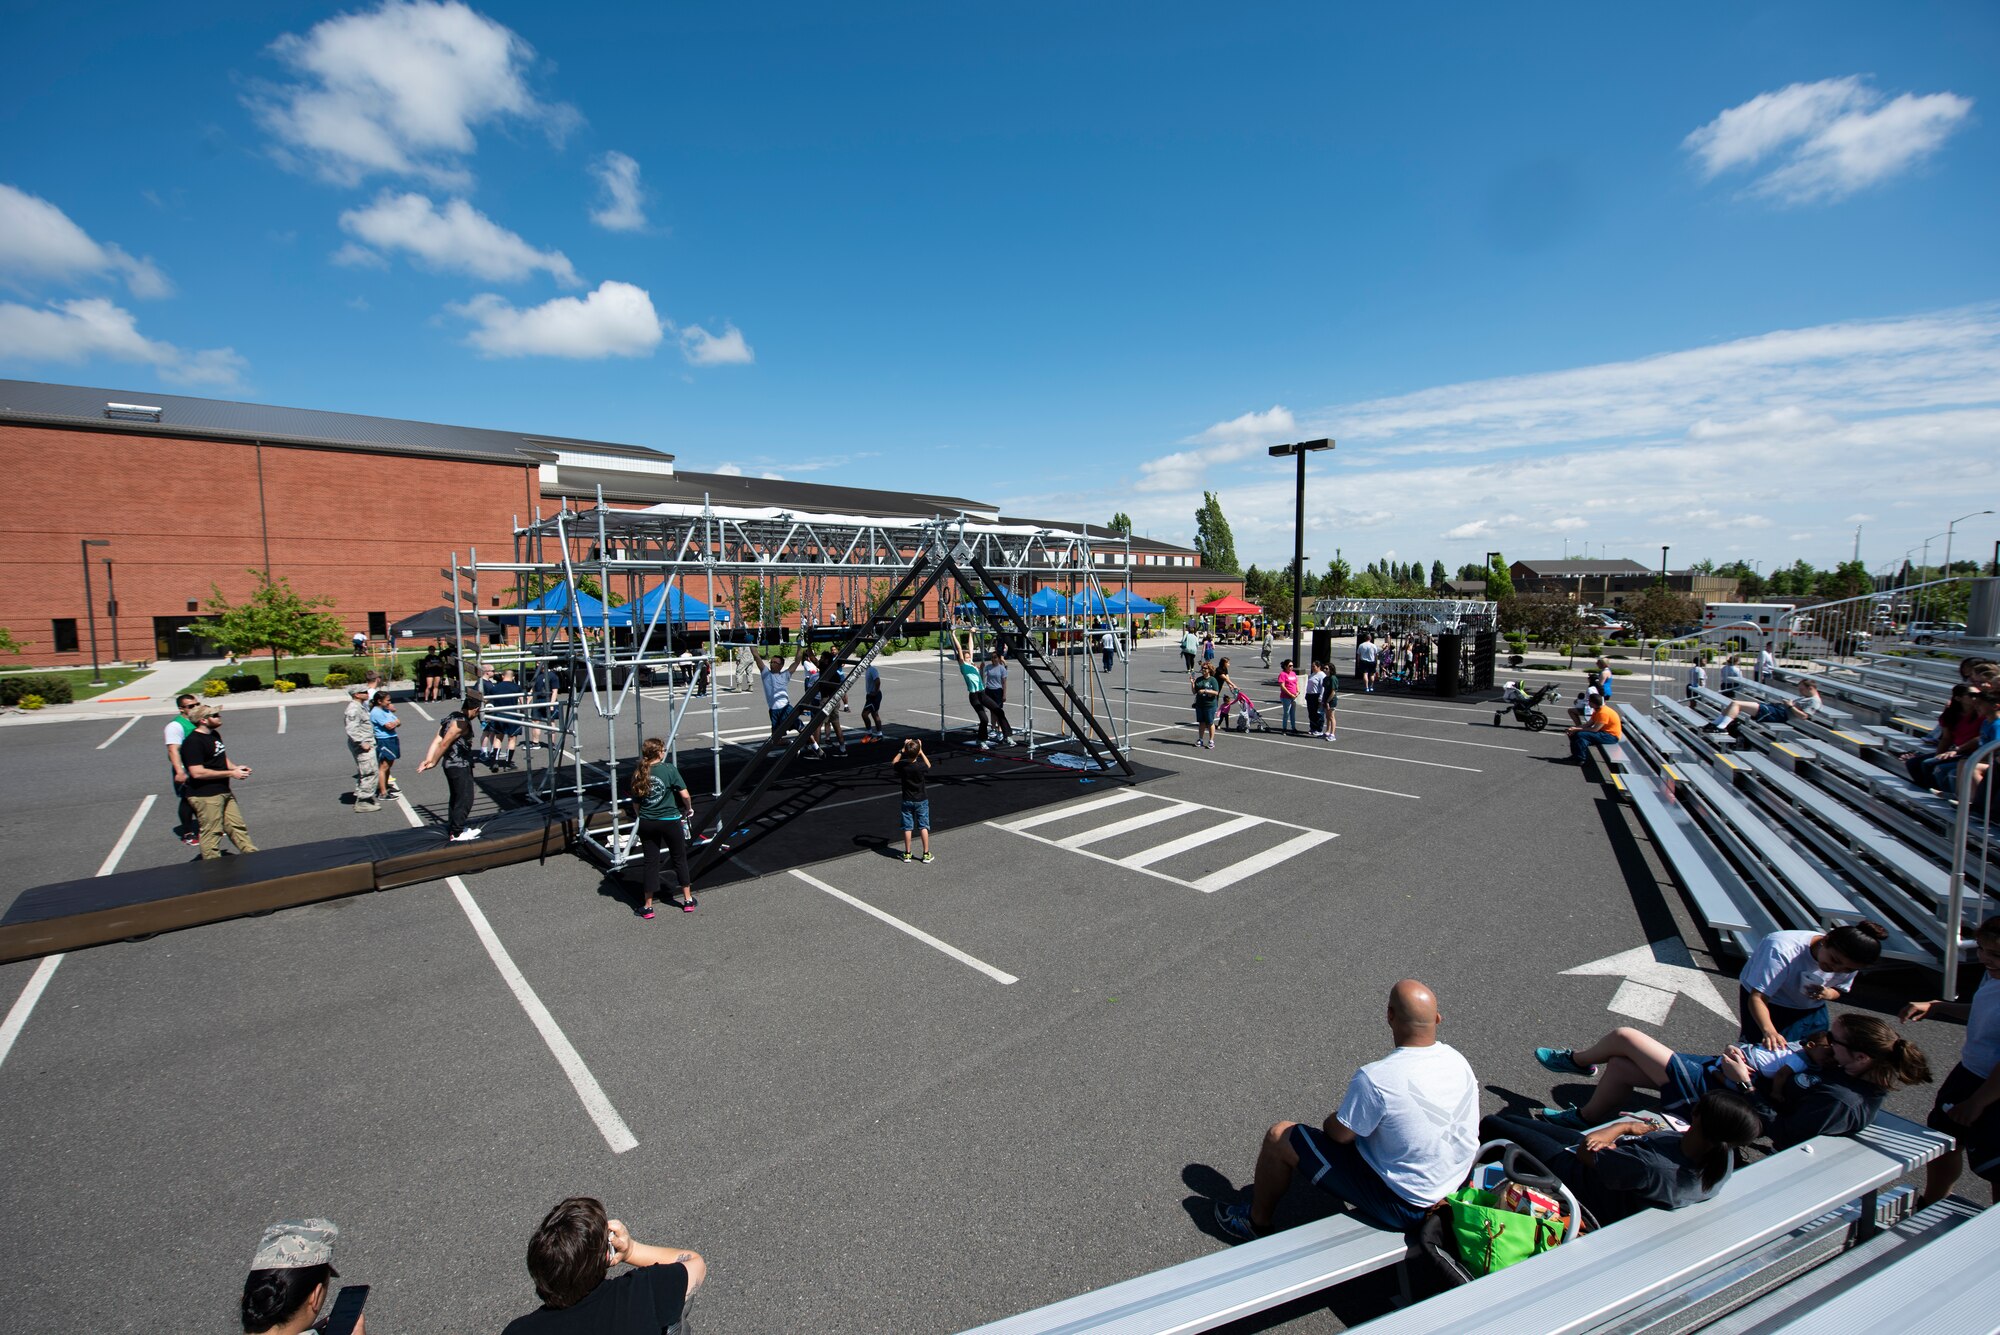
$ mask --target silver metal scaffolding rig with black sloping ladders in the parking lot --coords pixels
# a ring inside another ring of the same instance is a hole
[[[888,642],[938,632],[940,737],[952,731],[948,709],[958,683],[942,652],[944,636],[956,644],[960,634],[974,640],[986,634],[1008,648],[1054,705],[1038,725],[1036,689],[1024,691],[1022,735],[1030,755],[1068,749],[1100,767],[1130,769],[1130,654],[1120,656],[1122,673],[1104,673],[1080,634],[1092,622],[1100,630],[1112,626],[1130,650],[1130,610],[1022,618],[994,596],[1004,590],[1026,604],[1038,586],[1054,586],[1070,600],[1082,596],[1086,606],[1102,606],[1100,570],[1116,570],[1130,588],[1128,538],[1094,542],[1088,532],[966,516],[790,514],[708,502],[612,510],[600,494],[596,506],[564,506],[546,518],[536,512],[530,524],[516,522],[512,558],[482,562],[472,550],[460,562],[452,554],[450,598],[464,679],[474,681],[478,668],[516,673],[520,697],[488,703],[484,717],[522,725],[528,793],[574,809],[582,843],[614,869],[638,857],[638,815],[616,801],[624,795],[620,767],[638,757],[648,735],[658,735],[682,775],[692,777],[694,765],[682,763],[682,755],[696,747],[682,747],[680,735],[690,705],[706,695],[700,749],[708,751],[708,797],[722,799],[722,755],[730,745],[720,715],[724,671],[738,689],[754,685],[746,669],[754,669],[756,652],[794,634],[802,646],[838,646],[840,691],[816,705],[838,709],[840,695]],[[914,604],[912,588],[922,590]],[[550,606],[534,608],[538,598]],[[700,630],[690,630],[688,620],[674,616],[682,598],[700,600],[710,616],[728,620],[694,620]],[[592,606],[594,600],[606,606]],[[900,606],[888,616],[892,602]],[[504,646],[480,644],[482,618],[510,626]],[[786,630],[788,622],[796,622],[796,632]],[[556,689],[536,693],[538,675],[554,677]],[[800,701],[794,713],[806,705]],[[582,741],[590,719],[602,723],[602,753]],[[762,757],[766,737],[758,737],[752,755]],[[778,767],[790,759],[786,753]],[[764,775],[756,791],[772,777]],[[728,787],[740,783],[742,771]]]

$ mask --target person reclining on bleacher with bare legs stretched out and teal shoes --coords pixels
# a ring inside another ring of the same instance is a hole
[[[1544,1107],[1534,1117],[1586,1131],[1618,1115],[1634,1089],[1658,1089],[1660,1109],[1686,1117],[1704,1093],[1726,1089],[1752,1099],[1772,1145],[1790,1149],[1814,1135],[1854,1135],[1900,1085],[1930,1083],[1924,1051],[1874,1015],[1840,1015],[1824,1035],[1770,1051],[1730,1047],[1704,1057],[1676,1053],[1638,1029],[1612,1029],[1590,1047],[1536,1047],[1534,1059],[1558,1075],[1598,1075],[1582,1107]]]

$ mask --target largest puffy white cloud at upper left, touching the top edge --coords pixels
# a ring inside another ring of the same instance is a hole
[[[352,186],[374,174],[466,188],[474,130],[522,120],[560,138],[576,120],[528,86],[534,50],[464,4],[384,0],[272,44],[296,82],[250,98],[280,156]]]

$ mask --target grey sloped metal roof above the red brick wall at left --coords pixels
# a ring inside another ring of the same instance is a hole
[[[158,412],[140,412],[140,410]],[[206,440],[246,440],[336,450],[384,450],[460,460],[528,464],[556,452],[604,454],[670,462],[674,456],[648,446],[620,446],[566,436],[492,432],[476,426],[366,418],[318,408],[278,408],[276,404],[236,404],[230,400],[186,398],[148,390],[94,390],[36,380],[0,380],[0,422],[24,426],[64,426],[138,436],[198,436]]]

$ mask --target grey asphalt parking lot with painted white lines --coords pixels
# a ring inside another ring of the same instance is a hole
[[[1240,677],[1274,699],[1262,669]],[[932,660],[884,679],[892,733],[936,729]],[[1536,1043],[1634,1023],[1606,1009],[1620,977],[1572,969],[1678,939],[1710,965],[1616,793],[1554,763],[1560,729],[1346,691],[1334,743],[1206,751],[1178,654],[1140,650],[1132,681],[1142,783],[1048,773],[992,819],[956,819],[940,785],[934,865],[884,855],[894,787],[860,775],[810,845],[694,913],[642,921],[624,885],[560,857],[0,967],[20,1019],[0,1057],[0,1327],[234,1329],[262,1225],[328,1215],[342,1275],[374,1285],[374,1335],[496,1331],[534,1307],[536,1221],[592,1193],[636,1237],[708,1257],[710,1335],[956,1331],[1218,1247],[1206,1195],[1248,1183],[1270,1121],[1322,1119],[1388,1049],[1398,977],[1438,991],[1494,1111],[1550,1093]],[[722,735],[754,739],[762,697],[722,705]],[[226,721],[260,841],[442,811],[412,757],[410,811],[354,813],[338,705],[282,719]],[[0,727],[8,899],[114,851],[118,869],[188,853],[162,721]],[[1728,1011],[1734,981],[1710,995]],[[1700,987],[1644,1027],[1686,1051],[1734,1035]],[[1916,1037],[1942,1075],[1960,1031]],[[1378,1303],[1340,1291],[1284,1329]]]

